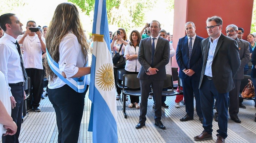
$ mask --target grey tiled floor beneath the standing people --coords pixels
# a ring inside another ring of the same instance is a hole
[[[202,124],[198,116],[194,115],[194,120],[180,122],[179,119],[185,113],[185,105],[180,108],[174,107],[175,97],[167,97],[166,104],[169,108],[162,107],[162,122],[166,126],[165,130],[154,125],[154,110],[152,109],[153,99],[149,99],[146,126],[135,129],[139,119],[139,109],[128,108],[130,101],[126,102],[127,119],[122,114],[122,102],[117,102],[118,113],[118,141],[119,143],[190,143],[197,142],[193,137],[201,134]],[[240,108],[239,119],[241,124],[232,120],[228,122],[228,137],[226,143],[256,143],[256,122],[254,122],[255,107],[252,100],[244,100],[246,109]],[[92,142],[92,133],[87,131],[91,102],[86,95],[84,113],[80,128],[79,143]],[[41,112],[30,111],[26,120],[22,124],[20,143],[53,143],[57,142],[58,129],[54,109],[48,97],[41,100]],[[214,110],[215,111],[215,110]],[[196,111],[195,111],[196,113]],[[199,141],[198,143],[211,143],[216,141],[217,122],[213,121],[213,140]],[[0,143],[2,141],[0,140]]]

